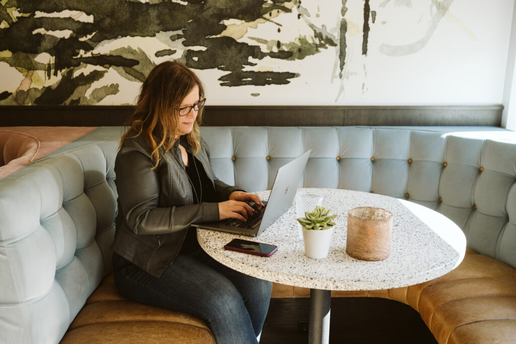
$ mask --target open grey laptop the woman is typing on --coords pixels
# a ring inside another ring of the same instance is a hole
[[[247,222],[237,219],[224,219],[217,222],[194,223],[192,226],[252,237],[259,235],[292,205],[311,151],[308,150],[308,152],[301,154],[279,168],[272,184],[269,200],[267,202],[263,201],[265,207],[262,207],[261,210],[256,210],[256,205],[252,202],[249,203],[255,210],[253,215],[247,219]]]

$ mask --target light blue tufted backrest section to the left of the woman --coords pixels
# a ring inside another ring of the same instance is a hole
[[[58,342],[111,270],[117,145],[87,145],[0,181],[0,342]]]

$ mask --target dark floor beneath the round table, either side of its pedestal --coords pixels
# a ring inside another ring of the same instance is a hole
[[[308,343],[308,332],[301,328],[308,322],[309,310],[308,298],[271,299],[260,344]],[[332,298],[330,343],[437,344],[437,341],[420,315],[406,304],[380,298]]]

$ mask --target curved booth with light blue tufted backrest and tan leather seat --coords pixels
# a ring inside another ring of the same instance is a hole
[[[0,180],[0,342],[53,343],[67,329],[63,342],[70,343],[140,342],[142,333],[159,342],[213,339],[199,319],[131,304],[112,285],[113,165],[120,134],[119,127],[99,128]],[[280,166],[312,149],[300,186],[372,191],[423,204],[459,224],[476,251],[437,280],[334,296],[405,302],[440,343],[510,342],[516,333],[514,133],[480,127],[203,127],[202,134],[215,173],[228,184],[268,189]],[[307,292],[282,285],[275,290],[286,297]],[[170,332],[156,337],[164,324]]]

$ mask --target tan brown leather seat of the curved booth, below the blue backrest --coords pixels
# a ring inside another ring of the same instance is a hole
[[[275,283],[271,297],[309,296],[310,289]],[[491,343],[491,338],[516,342],[516,269],[470,249],[455,270],[436,280],[385,290],[334,290],[332,297],[377,297],[406,303],[421,314],[439,343]],[[145,342],[148,333],[160,343],[215,342],[207,324],[194,316],[123,298],[110,274],[90,296],[61,343]]]

